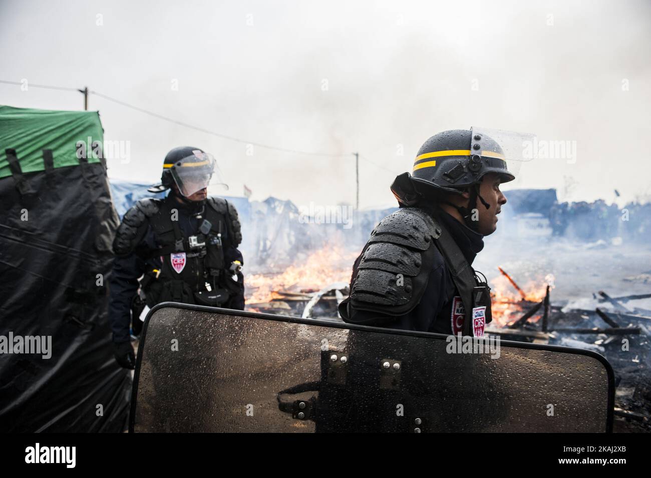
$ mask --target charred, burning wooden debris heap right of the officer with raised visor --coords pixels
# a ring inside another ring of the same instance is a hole
[[[496,326],[486,328],[486,333],[499,334],[503,339],[564,345],[602,354],[615,371],[615,416],[618,417],[615,430],[651,431],[651,369],[648,367],[651,310],[630,305],[634,300],[651,298],[651,294],[611,297],[599,291],[593,295],[594,299],[611,306],[612,310],[563,308],[551,304],[549,285],[545,287],[543,300],[530,300],[526,288],[519,287],[503,269],[499,271],[521,300],[508,299],[498,288],[493,304],[497,304],[498,310],[502,308],[502,316],[498,315]],[[514,315],[520,317],[511,321]]]

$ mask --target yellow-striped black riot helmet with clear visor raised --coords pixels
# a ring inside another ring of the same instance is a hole
[[[479,194],[482,178],[494,172],[503,183],[515,179],[506,160],[521,161],[523,144],[531,138],[533,135],[485,128],[443,131],[424,142],[416,155],[412,174],[400,174],[391,185],[391,191],[404,206],[413,206],[422,198],[432,197],[451,204],[443,199],[445,193],[469,191],[469,207],[457,209],[467,219],[466,224],[476,228],[476,222],[469,218],[477,198],[486,209],[490,207]]]

